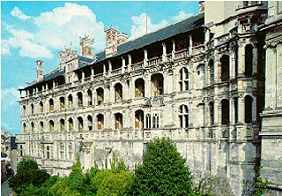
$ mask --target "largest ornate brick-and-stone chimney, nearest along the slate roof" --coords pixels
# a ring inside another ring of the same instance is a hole
[[[110,57],[116,54],[118,45],[123,44],[128,40],[127,34],[121,33],[113,27],[106,29],[105,34],[106,34],[106,50],[105,50],[106,57]]]

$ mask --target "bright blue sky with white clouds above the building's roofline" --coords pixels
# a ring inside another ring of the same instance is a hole
[[[56,68],[64,47],[78,49],[79,36],[105,47],[104,28],[113,26],[135,39],[198,12],[198,2],[2,2],[1,128],[20,132],[18,88],[35,79],[35,60]]]

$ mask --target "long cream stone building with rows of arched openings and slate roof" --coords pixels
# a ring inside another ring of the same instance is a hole
[[[196,177],[225,177],[246,195],[260,160],[267,2],[201,6],[133,41],[111,28],[106,54],[87,45],[95,58],[62,51],[59,68],[20,89],[21,154],[52,174],[67,175],[76,157],[87,169],[115,155],[133,169],[148,141],[169,137]]]

